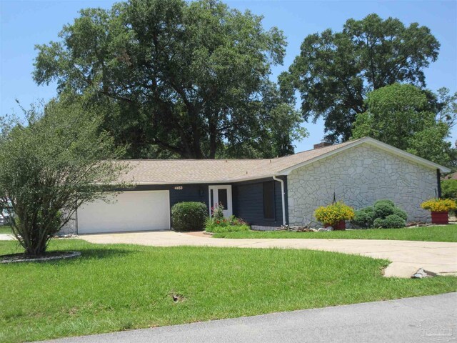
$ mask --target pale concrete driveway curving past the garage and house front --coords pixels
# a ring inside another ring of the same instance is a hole
[[[238,247],[313,249],[360,254],[392,263],[386,277],[411,277],[419,268],[436,274],[457,274],[457,243],[377,239],[216,239],[178,232],[91,234],[80,238],[99,244],[140,244],[154,247]]]

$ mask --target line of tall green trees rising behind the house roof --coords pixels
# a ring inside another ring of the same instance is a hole
[[[35,81],[57,81],[60,94],[104,114],[126,158],[283,156],[306,136],[303,121],[322,117],[333,143],[369,135],[455,163],[446,138],[456,95],[426,90],[440,44],[417,23],[370,14],[310,34],[277,83],[269,76],[283,63],[283,32],[221,1],[84,9],[60,37],[36,46]]]

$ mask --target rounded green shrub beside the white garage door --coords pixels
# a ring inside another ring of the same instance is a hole
[[[199,231],[205,226],[208,209],[203,202],[179,202],[171,207],[171,223],[176,231]]]

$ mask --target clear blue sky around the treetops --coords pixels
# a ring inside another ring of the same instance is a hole
[[[58,39],[64,24],[86,7],[109,8],[115,1],[5,1],[0,0],[0,115],[20,113],[15,99],[27,106],[56,95],[54,84],[37,86],[31,79],[35,44]],[[438,61],[426,69],[429,89],[442,86],[457,91],[457,1],[226,1],[237,9],[251,9],[265,18],[264,27],[278,26],[287,36],[283,66],[273,69],[272,78],[292,63],[304,37],[331,28],[341,30],[348,18],[362,19],[376,13],[393,16],[404,24],[428,26],[441,43]],[[296,151],[311,149],[323,137],[323,124],[306,123],[310,136],[295,142]],[[457,128],[452,132],[457,139]]]

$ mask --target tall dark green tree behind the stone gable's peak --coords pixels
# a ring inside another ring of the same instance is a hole
[[[301,94],[304,119],[325,120],[328,141],[346,141],[356,114],[366,111],[366,94],[396,82],[425,86],[423,69],[440,44],[426,26],[406,27],[398,19],[370,14],[348,19],[343,31],[306,36],[301,53],[281,84]]]

